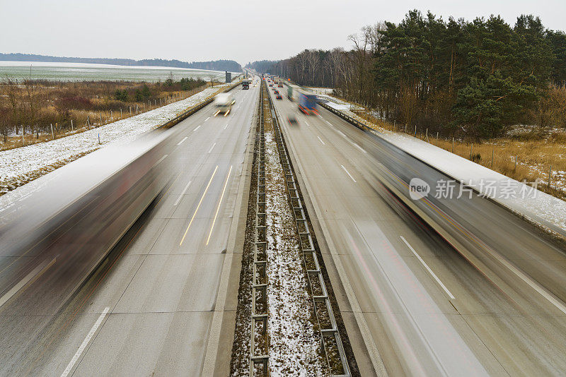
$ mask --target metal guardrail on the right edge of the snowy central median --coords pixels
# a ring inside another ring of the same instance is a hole
[[[270,102],[270,108],[273,114],[273,125],[275,130],[275,140],[277,141],[277,149],[279,150],[279,160],[285,174],[285,184],[287,185],[287,196],[293,208],[293,217],[296,225],[296,232],[299,234],[299,246],[303,255],[303,264],[308,278],[308,287],[311,290],[313,299],[313,309],[320,331],[320,339],[322,341],[322,349],[330,375],[333,377],[351,376],[350,368],[340,332],[338,331],[333,309],[328,297],[328,292],[320,271],[320,264],[316,256],[316,249],[311,236],[311,229],[306,220],[306,208],[300,198],[299,183],[296,181],[291,162],[289,160],[289,152],[279,128],[279,121],[275,113],[270,95],[267,95]]]

